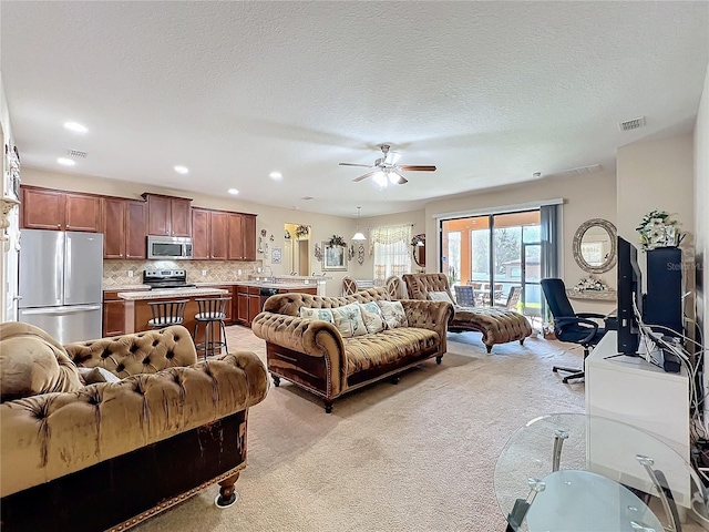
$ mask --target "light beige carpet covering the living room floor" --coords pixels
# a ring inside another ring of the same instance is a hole
[[[229,327],[228,340],[265,358],[250,329]],[[552,372],[580,364],[566,347],[528,338],[487,355],[480,334],[450,334],[441,366],[348,395],[331,415],[271,386],[249,410],[240,500],[218,510],[212,487],[135,530],[504,531],[493,471],[505,442],[534,417],[584,409],[584,385]]]

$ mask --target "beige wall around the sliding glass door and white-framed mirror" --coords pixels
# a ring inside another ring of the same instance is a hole
[[[436,243],[436,214],[477,211],[528,202],[564,198],[563,206],[563,278],[567,286],[575,285],[586,274],[574,260],[572,242],[578,226],[589,218],[605,218],[616,222],[616,178],[612,172],[583,177],[549,177],[530,183],[516,184],[482,194],[469,194],[454,198],[434,201],[425,206],[427,244]],[[427,270],[438,272],[439,252],[436,245],[427,245]],[[599,277],[609,286],[616,286],[615,268]],[[615,305],[574,300],[577,311],[608,313]]]

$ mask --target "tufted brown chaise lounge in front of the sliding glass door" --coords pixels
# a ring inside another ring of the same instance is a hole
[[[445,291],[452,301],[455,300],[444,274],[405,274],[403,282],[412,299],[428,299],[429,291]],[[491,352],[495,344],[515,340],[524,344],[524,339],[532,334],[532,326],[527,318],[514,310],[456,305],[449,330],[451,332],[481,331],[483,344],[487,352]]]

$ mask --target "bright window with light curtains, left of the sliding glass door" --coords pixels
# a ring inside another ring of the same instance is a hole
[[[411,225],[373,227],[369,232],[369,254],[374,257],[376,286],[383,286],[390,275],[411,272]]]

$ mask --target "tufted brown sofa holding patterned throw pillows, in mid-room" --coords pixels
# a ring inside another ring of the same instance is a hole
[[[389,299],[384,288],[369,288],[345,297],[309,294],[271,296],[251,323],[256,336],[266,340],[268,370],[274,383],[288,379],[321,397],[326,412],[348,391],[391,377],[446,350],[446,326],[453,306],[442,301],[402,300],[409,327],[342,338],[327,321],[299,317],[300,307],[332,308],[353,301]]]

